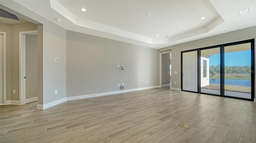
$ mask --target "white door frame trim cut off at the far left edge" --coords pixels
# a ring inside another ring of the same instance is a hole
[[[1,32],[0,31],[0,34],[3,34],[4,35],[4,51],[3,51],[3,55],[4,55],[4,60],[3,60],[3,71],[4,71],[4,74],[3,74],[3,80],[4,80],[4,105],[6,105],[6,32]]]

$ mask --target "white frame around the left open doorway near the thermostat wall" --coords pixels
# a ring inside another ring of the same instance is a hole
[[[37,30],[20,32],[20,105],[26,104],[26,35],[37,34]]]

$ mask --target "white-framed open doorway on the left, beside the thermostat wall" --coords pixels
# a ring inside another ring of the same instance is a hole
[[[20,32],[20,105],[37,100],[37,30]]]

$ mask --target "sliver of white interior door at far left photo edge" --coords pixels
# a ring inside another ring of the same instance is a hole
[[[0,33],[0,104],[4,104],[4,35]]]

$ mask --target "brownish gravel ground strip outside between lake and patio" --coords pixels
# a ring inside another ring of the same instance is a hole
[[[204,86],[202,88],[220,90],[220,84],[210,84],[210,85]],[[247,87],[247,86],[224,85],[224,89],[225,89],[225,91],[251,93],[251,87]]]

